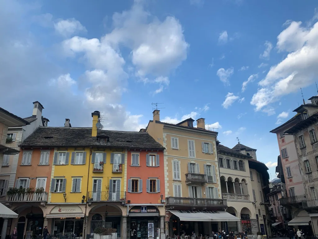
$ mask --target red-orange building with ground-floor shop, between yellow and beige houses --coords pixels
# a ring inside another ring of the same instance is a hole
[[[160,237],[164,236],[163,150],[164,148],[159,146],[156,149],[136,148],[128,151],[126,193],[126,205],[129,209],[128,239],[156,238],[159,234]],[[161,231],[158,228],[161,228]]]

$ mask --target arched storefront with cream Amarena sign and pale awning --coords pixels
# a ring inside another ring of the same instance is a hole
[[[52,218],[51,234],[82,237],[84,214],[77,205],[55,206],[46,218]]]

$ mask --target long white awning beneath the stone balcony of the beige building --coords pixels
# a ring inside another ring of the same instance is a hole
[[[180,221],[240,221],[240,219],[225,211],[210,210],[169,210]]]

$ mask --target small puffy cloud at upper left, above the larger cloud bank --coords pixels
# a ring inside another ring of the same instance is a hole
[[[80,32],[87,32],[85,26],[83,26],[75,18],[66,20],[59,19],[56,23],[54,23],[54,28],[57,33],[64,37],[70,37]]]

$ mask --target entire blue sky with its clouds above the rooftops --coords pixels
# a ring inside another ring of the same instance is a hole
[[[49,126],[139,130],[152,119],[205,118],[218,140],[258,149],[272,177],[270,130],[316,95],[316,1],[117,0],[0,2],[3,108],[40,101]],[[316,9],[317,8],[317,9]]]

